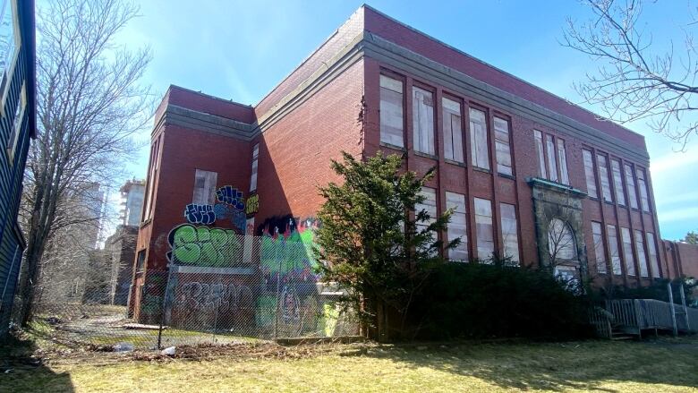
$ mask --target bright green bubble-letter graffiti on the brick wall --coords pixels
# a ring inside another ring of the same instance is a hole
[[[183,224],[170,231],[167,241],[167,260],[174,263],[228,267],[242,261],[242,243],[231,229]]]

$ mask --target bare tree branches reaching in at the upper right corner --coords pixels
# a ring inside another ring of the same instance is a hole
[[[652,52],[652,36],[640,22],[642,0],[583,0],[594,14],[579,24],[567,19],[563,45],[572,47],[600,64],[575,90],[598,105],[610,120],[620,124],[647,121],[655,132],[681,144],[698,133],[694,111],[698,109],[698,52],[689,28],[685,45],[673,43],[664,53]]]

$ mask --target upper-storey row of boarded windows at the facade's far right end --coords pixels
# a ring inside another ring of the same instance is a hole
[[[620,161],[616,158],[609,160],[603,154],[596,154],[596,160],[593,159],[591,150],[582,150],[584,160],[584,175],[586,177],[587,194],[592,198],[599,198],[599,188],[604,201],[613,203],[615,201],[621,206],[630,206],[633,209],[638,209],[638,190],[640,195],[640,206],[643,211],[650,211],[649,192],[647,190],[647,182],[645,181],[645,172],[643,168],[635,168],[630,164],[624,163],[621,167]],[[596,183],[595,168],[599,170],[599,184]],[[635,177],[637,176],[637,182]],[[611,179],[613,182],[613,190],[611,190]],[[615,191],[615,194],[614,194]],[[627,198],[626,192],[627,191]]]

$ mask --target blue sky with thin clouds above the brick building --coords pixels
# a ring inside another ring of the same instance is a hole
[[[149,45],[153,61],[144,82],[158,95],[176,84],[255,104],[336,30],[359,1],[147,0],[141,16],[118,37],[128,47]],[[572,88],[594,62],[560,46],[566,16],[585,20],[589,11],[569,1],[372,1],[371,6],[464,52],[573,102]],[[658,50],[682,44],[687,1],[650,4],[643,21]],[[591,107],[593,110],[593,108]],[[644,124],[662,236],[698,230],[698,137],[686,153]],[[143,140],[150,130],[144,130]],[[144,177],[148,149],[133,162]]]

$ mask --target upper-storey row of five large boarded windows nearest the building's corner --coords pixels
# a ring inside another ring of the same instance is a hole
[[[430,90],[412,87],[413,149],[436,155],[434,133],[435,102]],[[457,98],[441,98],[441,122],[446,159],[464,163],[463,102]],[[472,166],[489,170],[488,122],[485,111],[468,108]],[[509,121],[494,116],[495,151],[498,173],[513,175]],[[404,148],[404,83],[387,75],[380,75],[380,141]]]

